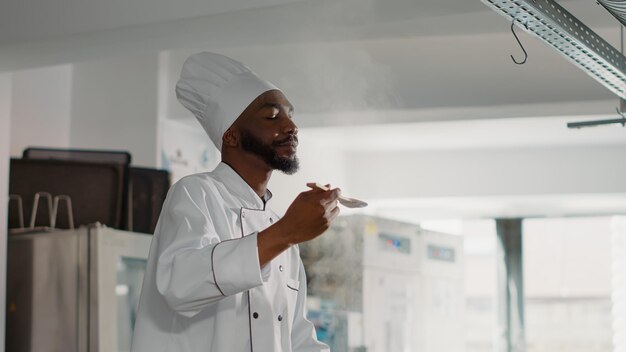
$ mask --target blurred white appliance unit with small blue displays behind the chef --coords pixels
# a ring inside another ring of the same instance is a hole
[[[464,350],[460,236],[364,215],[302,244],[308,318],[333,352]]]

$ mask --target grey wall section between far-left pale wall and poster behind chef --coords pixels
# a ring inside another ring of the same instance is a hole
[[[155,167],[158,55],[74,65],[70,145],[128,150],[133,164]]]

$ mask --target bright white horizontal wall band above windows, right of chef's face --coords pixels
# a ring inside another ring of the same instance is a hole
[[[624,193],[626,146],[361,152],[352,189],[370,199]]]

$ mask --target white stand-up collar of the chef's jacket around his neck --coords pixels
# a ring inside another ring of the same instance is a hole
[[[217,165],[212,173],[229,191],[240,198],[247,208],[265,210],[267,203],[272,198],[272,192],[269,189],[263,198],[259,197],[241,175],[223,161]]]

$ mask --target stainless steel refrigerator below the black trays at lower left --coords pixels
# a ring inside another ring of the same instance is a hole
[[[99,224],[11,233],[7,352],[129,351],[151,238]]]

